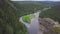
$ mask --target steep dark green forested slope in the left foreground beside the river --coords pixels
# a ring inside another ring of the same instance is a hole
[[[18,18],[18,11],[11,1],[0,0],[0,34],[27,34]]]

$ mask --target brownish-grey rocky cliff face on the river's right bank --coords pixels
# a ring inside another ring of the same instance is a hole
[[[40,30],[39,32],[42,32],[42,33],[39,33],[39,34],[60,34],[58,32],[59,27],[56,27],[56,24],[58,22],[55,22],[54,20],[50,19],[50,18],[40,18],[39,19],[39,24],[40,24]]]

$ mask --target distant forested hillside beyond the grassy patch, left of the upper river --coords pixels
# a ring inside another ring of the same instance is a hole
[[[52,4],[40,1],[12,1],[12,3],[16,6],[21,15],[31,14],[37,12],[38,10],[53,6]]]

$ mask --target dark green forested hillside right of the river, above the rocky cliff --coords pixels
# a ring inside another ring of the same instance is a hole
[[[40,17],[49,17],[60,23],[60,2],[54,2],[54,7],[47,11],[42,11]]]

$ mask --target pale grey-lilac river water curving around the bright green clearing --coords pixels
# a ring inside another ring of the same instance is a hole
[[[31,19],[31,23],[26,23],[22,20],[22,17],[20,17],[20,22],[22,22],[26,27],[27,30],[29,32],[29,34],[38,34],[38,30],[39,30],[39,22],[38,22],[38,18],[39,18],[39,13],[34,13],[35,18]]]

